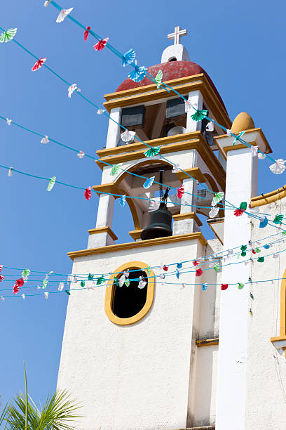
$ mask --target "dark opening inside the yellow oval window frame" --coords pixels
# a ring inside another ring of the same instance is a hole
[[[138,288],[140,276],[147,282],[142,289]],[[121,274],[117,275],[117,279],[120,277]],[[130,318],[136,315],[144,308],[146,303],[148,287],[147,274],[139,270],[130,272],[128,280],[130,281],[128,287],[125,284],[123,284],[122,287],[118,287],[114,282],[111,308],[114,315],[118,316],[118,318]]]

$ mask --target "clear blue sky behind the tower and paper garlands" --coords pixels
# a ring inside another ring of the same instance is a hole
[[[284,119],[279,118],[285,99],[284,0],[276,1],[275,8],[258,0],[146,0],[140,6],[134,0],[62,0],[61,6],[74,7],[75,18],[109,37],[119,51],[134,48],[140,65],[160,63],[161,52],[170,44],[167,34],[175,25],[187,28],[189,34],[182,42],[190,60],[210,74],[231,119],[243,110],[249,112],[268,138],[274,157],[286,158]],[[109,50],[95,52],[94,39],[85,43],[83,31],[72,22],[57,24],[57,11],[53,6],[44,8],[43,0],[1,2],[0,17],[1,27],[18,27],[18,41],[36,56],[48,58],[47,65],[79,84],[99,105],[128,73]],[[0,115],[91,155],[104,147],[107,119],[78,96],[67,98],[67,86],[48,70],[31,72],[34,60],[16,44],[1,44],[0,64]],[[76,153],[53,143],[41,145],[37,136],[3,121],[0,138],[1,164],[82,187],[100,183],[101,171],[93,160],[79,160]],[[259,193],[285,184],[285,174],[275,176],[268,166],[267,160],[259,161]],[[47,193],[45,181],[18,174],[8,178],[2,169],[0,184],[0,263],[69,273],[67,252],[86,247],[88,229],[95,227],[97,197],[86,202],[80,190],[61,185]],[[127,205],[116,206],[114,219],[118,242],[130,241]],[[3,273],[20,278],[20,271]],[[23,360],[34,400],[43,401],[55,390],[66,308],[66,294],[0,302],[4,399],[23,389]]]

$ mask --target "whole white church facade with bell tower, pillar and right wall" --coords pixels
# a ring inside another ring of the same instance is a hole
[[[271,147],[246,112],[231,122],[212,80],[179,43],[183,34],[176,27],[175,44],[148,72],[162,70],[163,82],[207,110],[213,129],[147,77],[105,96],[111,119],[97,151],[97,223],[87,248],[69,252],[73,275],[104,274],[104,282],[86,281],[86,291],[69,297],[57,386],[83,405],[84,430],[284,430],[286,242],[282,224],[259,224],[265,214],[285,214],[286,188],[257,196],[260,161],[251,147]],[[216,122],[250,146],[233,144]],[[118,124],[160,154],[146,157],[142,142],[126,143]],[[154,178],[149,188],[142,177]],[[161,181],[171,187],[172,230],[156,236]],[[173,191],[180,187],[181,199]],[[225,207],[210,217],[221,192]],[[116,244],[122,195],[134,230]],[[254,216],[233,215],[241,202]],[[214,239],[205,239],[203,224]]]

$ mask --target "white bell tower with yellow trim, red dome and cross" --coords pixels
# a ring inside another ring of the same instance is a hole
[[[186,30],[175,27],[168,35],[174,44],[148,72],[156,77],[162,70],[163,82],[230,129],[212,80],[191,63],[179,43],[184,34]],[[87,280],[85,290],[71,292],[58,386],[83,405],[81,429],[186,429],[200,415],[215,413],[208,399],[208,412],[196,403],[202,370],[195,365],[195,348],[198,330],[215,337],[217,323],[201,315],[202,306],[215,302],[217,292],[214,288],[202,304],[201,287],[195,284],[207,282],[208,275],[198,280],[187,263],[177,279],[175,269],[179,262],[214,252],[200,231],[212,193],[198,183],[214,192],[225,190],[226,162],[217,155],[214,139],[224,131],[216,124],[209,131],[204,121],[193,121],[182,98],[157,88],[147,77],[139,83],[125,79],[105,99],[111,119],[106,147],[97,151],[102,181],[93,187],[100,196],[96,226],[88,230],[86,249],[69,252],[73,275],[104,274],[105,282]],[[134,140],[126,143],[116,123],[133,131]],[[148,148],[136,137],[151,148],[159,146],[160,153],[146,157]],[[115,174],[104,162],[118,166]],[[143,187],[141,176],[155,177],[150,188]],[[171,188],[160,207],[162,182]],[[179,199],[174,188],[182,186],[184,196]],[[109,193],[127,197],[134,222],[128,243],[116,243],[112,219],[119,197]],[[217,219],[223,215],[219,211]],[[165,279],[164,265],[169,266]],[[138,279],[143,281],[140,285]],[[212,367],[212,356],[203,359]]]

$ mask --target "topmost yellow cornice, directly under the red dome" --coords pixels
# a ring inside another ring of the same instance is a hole
[[[178,79],[171,79],[170,81],[166,81],[166,84],[172,86],[182,95],[186,95],[190,91],[199,90],[203,95],[205,103],[210,110],[212,110],[212,114],[217,119],[217,122],[225,126],[227,129],[231,128],[229,115],[227,115],[221,101],[203,73]],[[110,112],[114,107],[140,105],[154,100],[161,100],[162,98],[174,98],[174,96],[176,96],[176,93],[172,91],[168,93],[163,89],[157,89],[156,84],[151,84],[144,85],[136,89],[128,89],[125,91],[106,94],[104,97],[107,101],[103,104]]]

